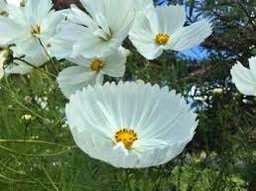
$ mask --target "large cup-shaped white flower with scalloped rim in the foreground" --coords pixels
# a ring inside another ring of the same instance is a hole
[[[88,86],[70,96],[65,113],[84,152],[124,168],[168,162],[191,142],[197,125],[181,95],[149,83]]]

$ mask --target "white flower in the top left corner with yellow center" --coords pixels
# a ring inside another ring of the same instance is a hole
[[[34,55],[58,31],[64,19],[52,10],[51,0],[28,0],[25,7],[7,6],[8,17],[0,17],[0,45],[15,44],[20,53]]]

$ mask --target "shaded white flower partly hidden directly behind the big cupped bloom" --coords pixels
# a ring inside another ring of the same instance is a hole
[[[77,66],[65,68],[57,78],[64,96],[69,98],[76,90],[81,90],[89,84],[102,84],[104,75],[122,77],[125,72],[126,56],[125,49],[119,48],[106,57],[67,58]]]

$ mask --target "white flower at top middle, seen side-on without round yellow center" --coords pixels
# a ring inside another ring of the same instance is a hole
[[[72,34],[70,38],[75,42],[70,45],[73,46],[71,56],[101,57],[119,48],[128,36],[133,23],[135,15],[133,2],[130,0],[80,0],[80,2],[88,14],[71,5],[66,16],[72,27],[65,24],[63,28],[64,31]]]

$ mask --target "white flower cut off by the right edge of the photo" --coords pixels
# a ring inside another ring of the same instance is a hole
[[[256,96],[256,56],[249,58],[250,69],[239,61],[232,67],[232,81],[244,95]]]

